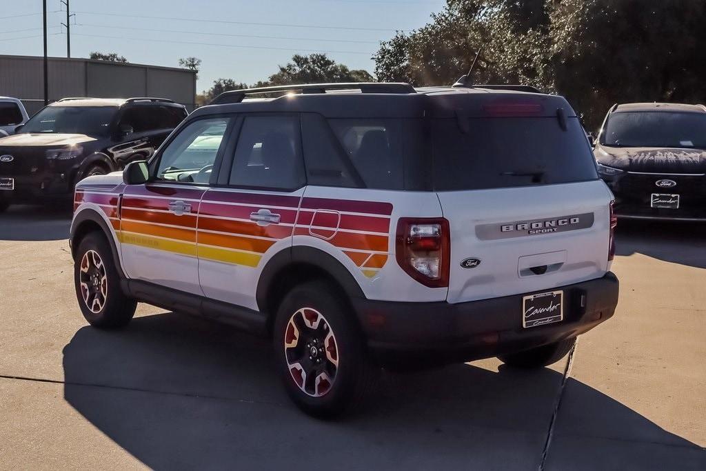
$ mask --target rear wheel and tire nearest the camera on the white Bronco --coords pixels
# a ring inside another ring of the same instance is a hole
[[[335,287],[323,281],[294,287],[277,309],[273,333],[277,369],[301,410],[328,418],[364,403],[379,369]]]

